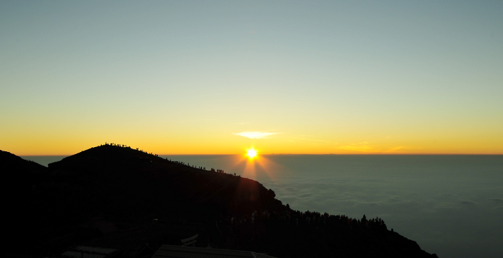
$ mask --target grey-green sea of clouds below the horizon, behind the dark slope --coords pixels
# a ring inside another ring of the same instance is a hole
[[[442,258],[503,257],[502,155],[162,157],[256,179],[295,210],[382,218]]]

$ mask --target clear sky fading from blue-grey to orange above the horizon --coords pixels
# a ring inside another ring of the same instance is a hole
[[[502,1],[0,1],[0,149],[503,154]]]

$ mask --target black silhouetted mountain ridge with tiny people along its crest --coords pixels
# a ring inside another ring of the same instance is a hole
[[[436,257],[379,218],[293,211],[254,180],[125,145],[97,146],[48,168],[6,152],[0,158],[10,192],[6,253],[57,257],[87,245],[148,257],[198,234],[198,247],[274,257]]]

